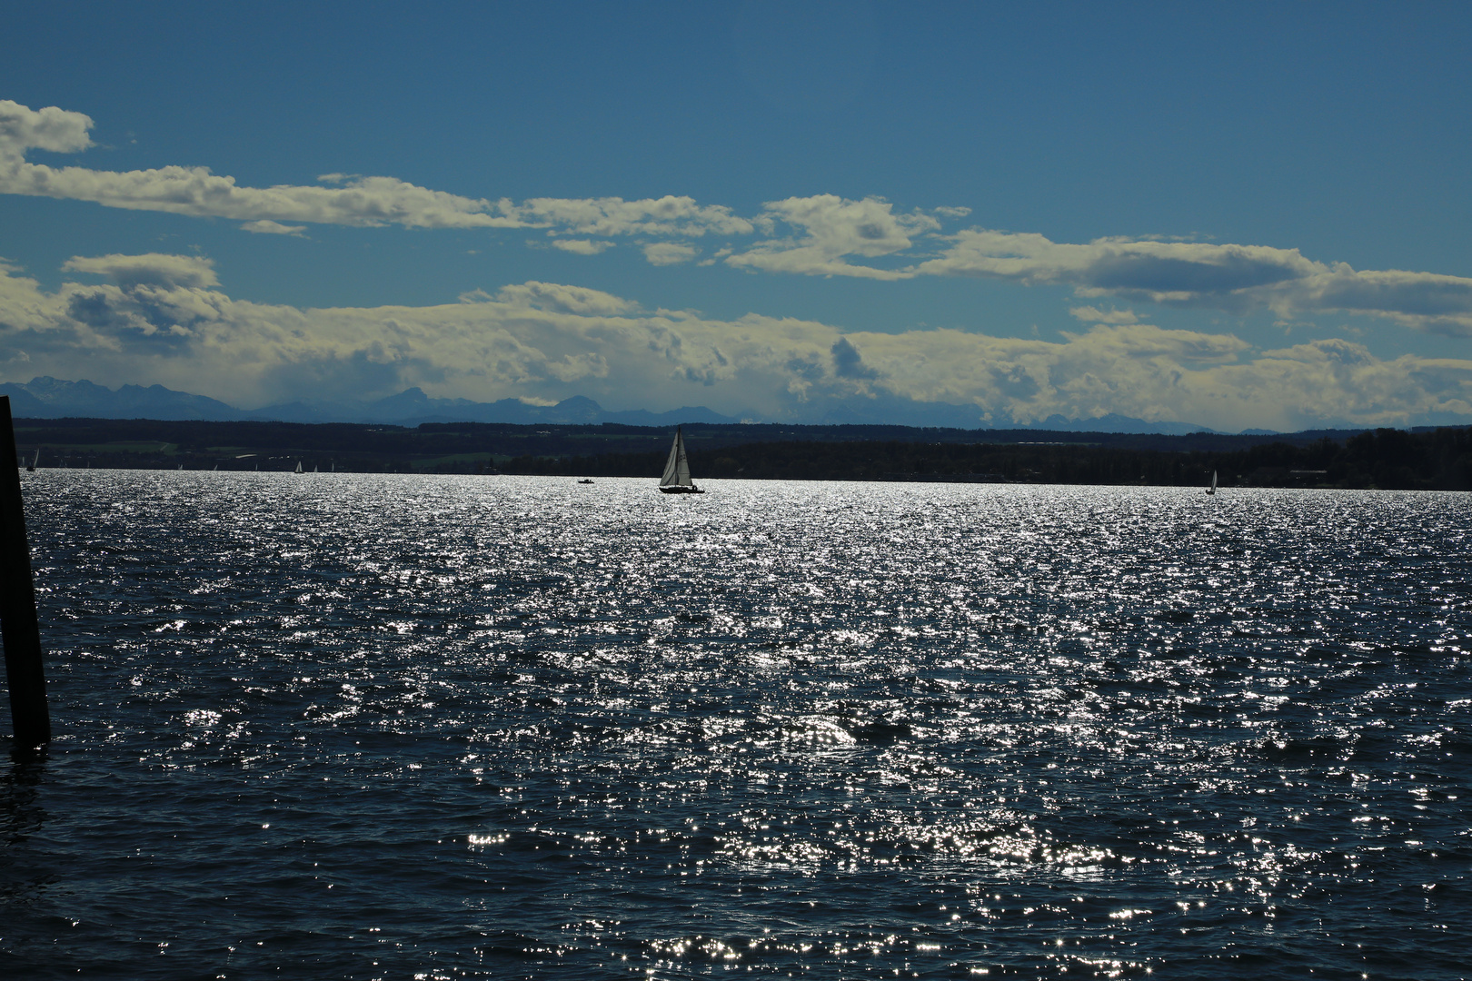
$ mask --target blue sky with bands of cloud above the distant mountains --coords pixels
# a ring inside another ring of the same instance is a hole
[[[789,7],[12,10],[0,381],[1472,422],[1466,4]]]

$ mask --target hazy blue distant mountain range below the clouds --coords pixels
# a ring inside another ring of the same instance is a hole
[[[511,422],[562,425],[598,425],[621,422],[624,425],[661,427],[684,422],[739,422],[732,416],[704,406],[686,406],[671,412],[646,412],[643,409],[615,412],[604,409],[592,399],[574,396],[555,406],[536,406],[520,399],[499,402],[471,402],[470,399],[433,399],[421,388],[408,388],[396,396],[374,402],[290,402],[263,409],[237,409],[218,399],[174,391],[163,385],[122,385],[118,390],[90,381],[62,381],[40,377],[22,382],[0,384],[0,396],[10,396],[10,412],[28,419],[205,419],[219,422],[268,421],[268,422],[380,422],[417,427],[421,422]],[[951,406],[944,403],[919,403],[908,399],[886,397],[839,403],[823,409],[813,418],[795,419],[799,424],[857,424],[857,425],[910,425],[910,427],[955,427],[977,428],[1027,428],[1045,431],[1086,432],[1161,432],[1183,435],[1188,432],[1213,432],[1188,422],[1147,422],[1110,413],[1092,419],[1066,419],[1050,416],[1042,422],[1019,425],[1011,419],[995,419],[982,424],[974,406]],[[1266,432],[1266,431],[1256,431]]]

